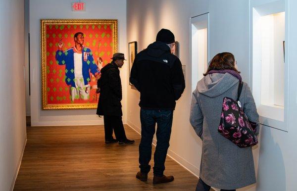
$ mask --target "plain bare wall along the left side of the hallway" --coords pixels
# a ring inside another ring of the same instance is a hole
[[[9,191],[26,142],[24,1],[0,1],[0,191]]]

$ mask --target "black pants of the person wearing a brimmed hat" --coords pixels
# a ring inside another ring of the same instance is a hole
[[[122,122],[122,116],[104,115],[104,132],[105,141],[112,140],[112,130],[114,131],[115,138],[118,141],[127,139],[125,129]]]

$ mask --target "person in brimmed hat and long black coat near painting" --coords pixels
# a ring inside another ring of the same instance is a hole
[[[105,143],[132,144],[134,140],[128,140],[122,122],[122,85],[120,70],[124,64],[124,54],[114,53],[112,62],[101,69],[101,77],[97,82],[100,90],[97,115],[103,115]],[[112,137],[114,130],[115,138]]]

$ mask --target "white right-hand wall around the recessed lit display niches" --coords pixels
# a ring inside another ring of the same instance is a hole
[[[261,0],[265,3],[275,0]],[[297,182],[297,1],[284,0],[288,11],[288,132],[261,126],[260,143],[253,148],[257,184],[239,191],[296,191]],[[174,111],[168,154],[199,175],[201,141],[189,123],[191,99],[190,18],[209,12],[209,57],[229,51],[235,55],[243,80],[251,84],[250,0],[127,0],[127,43],[137,41],[138,51],[155,41],[161,28],[170,29],[179,42],[179,57],[186,65],[186,89]],[[290,4],[290,6],[289,6]],[[287,34],[287,33],[286,33]],[[280,74],[282,75],[282,74]],[[253,82],[255,83],[255,82]],[[141,131],[139,92],[128,85],[127,123]],[[155,143],[155,141],[154,141]],[[166,171],[165,171],[166,173]],[[193,185],[195,188],[195,185]],[[194,189],[193,188],[193,189]]]

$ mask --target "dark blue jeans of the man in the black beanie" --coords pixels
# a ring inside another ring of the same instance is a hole
[[[151,158],[151,143],[155,133],[155,124],[157,123],[157,145],[153,158],[153,174],[155,176],[163,176],[171,134],[172,117],[172,110],[141,109],[141,142],[139,144],[139,167],[141,172],[148,173],[150,170],[148,163]]]

